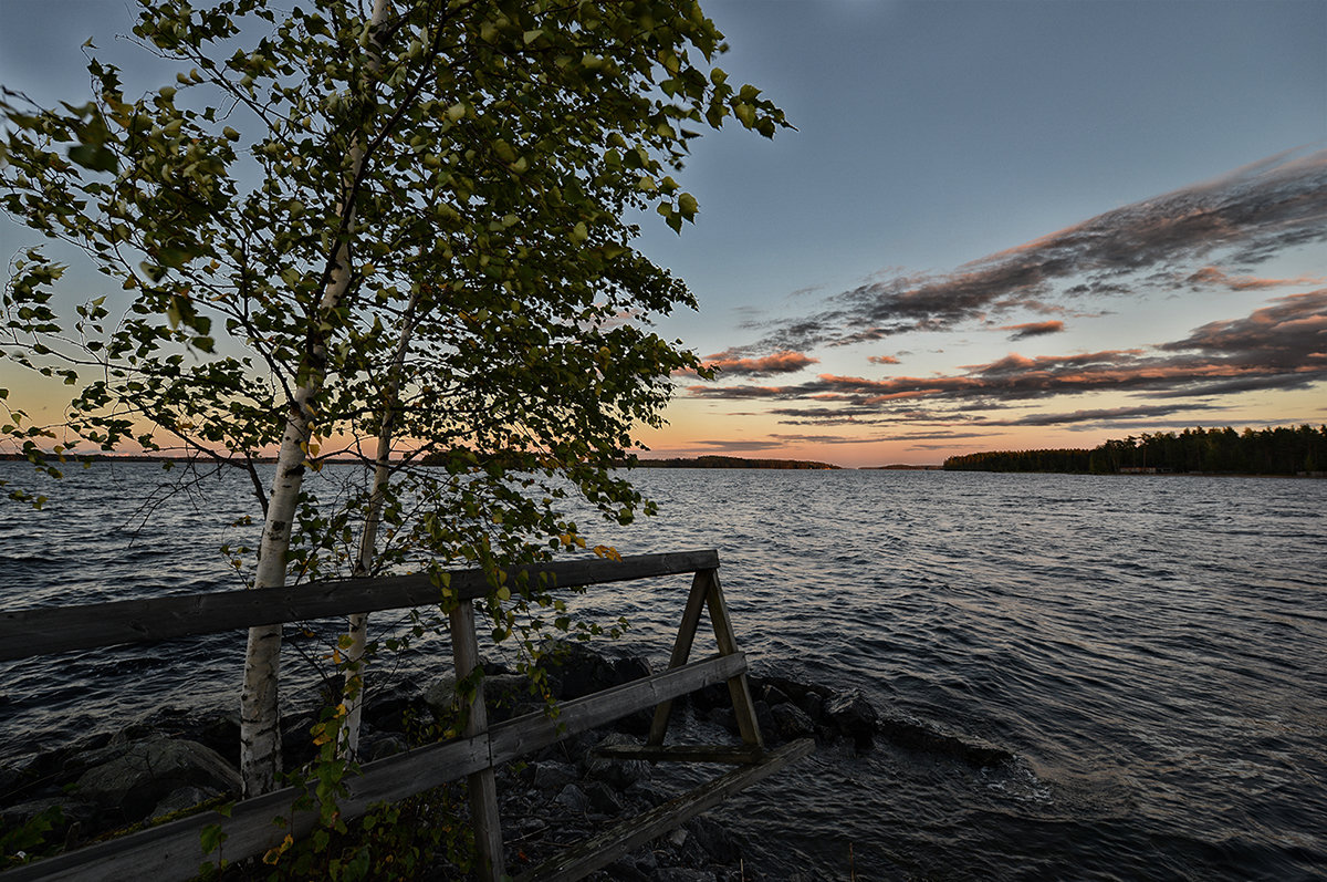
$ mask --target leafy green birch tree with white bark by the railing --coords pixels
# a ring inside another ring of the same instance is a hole
[[[0,98],[0,205],[107,279],[77,303],[40,248],[11,264],[4,357],[73,391],[60,426],[0,391],[11,444],[243,469],[255,587],[545,559],[585,541],[572,495],[650,511],[610,466],[698,367],[650,316],[695,303],[637,223],[694,218],[671,174],[701,129],[786,125],[695,3],[142,0],[133,33],[175,82],[127,94],[92,46],[85,104]],[[358,498],[305,481],[330,454],[374,469]],[[498,638],[511,602],[495,579]],[[249,794],[280,772],[280,639],[249,634]]]

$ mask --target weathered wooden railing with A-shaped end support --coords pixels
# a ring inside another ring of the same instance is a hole
[[[341,817],[360,817],[374,804],[402,800],[467,777],[482,875],[486,879],[499,879],[504,875],[504,865],[494,769],[503,762],[545,748],[571,735],[654,707],[654,723],[646,743],[640,747],[618,745],[606,752],[608,756],[650,761],[730,762],[738,766],[670,802],[573,846],[519,877],[577,879],[805,756],[815,747],[808,739],[794,741],[776,750],[764,748],[747,684],[746,656],[738,650],[727,604],[719,587],[718,567],[717,551],[687,551],[626,557],[621,561],[544,563],[508,571],[507,583],[520,584],[524,579],[529,579],[531,584],[547,588],[694,574],[669,668],[594,695],[564,701],[559,705],[556,721],[545,713],[536,712],[495,725],[487,723],[480,680],[460,739],[364,764],[361,774],[346,781],[348,793],[337,802]],[[479,664],[471,602],[484,596],[490,591],[490,576],[480,570],[450,574],[449,591],[453,598],[462,600],[450,614],[458,679],[468,676]],[[353,612],[437,606],[439,595],[441,590],[433,578],[415,575],[0,611],[0,660]],[[691,646],[706,608],[718,643],[718,655],[690,662]],[[727,681],[733,699],[742,744],[735,747],[665,744],[673,700],[723,681]],[[305,788],[287,788],[244,800],[238,802],[227,817],[216,812],[203,812],[16,867],[0,874],[0,879],[100,882],[111,878],[191,878],[203,862],[215,859],[215,855],[203,851],[204,828],[220,825],[226,833],[224,857],[228,861],[263,854],[277,846],[288,833],[296,838],[307,836],[317,822],[316,810],[296,808],[307,793]],[[276,818],[284,818],[285,825],[273,824]]]

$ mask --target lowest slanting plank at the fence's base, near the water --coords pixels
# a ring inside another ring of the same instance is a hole
[[[556,858],[516,877],[516,882],[572,882],[601,870],[621,855],[658,838],[734,793],[768,777],[815,749],[815,741],[802,739],[766,754],[756,765],[734,769],[689,793],[658,805],[629,821],[580,842]]]

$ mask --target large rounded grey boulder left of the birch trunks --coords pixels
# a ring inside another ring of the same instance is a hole
[[[239,792],[240,776],[216,750],[196,741],[155,737],[130,744],[117,758],[84,772],[74,793],[138,820],[187,786]]]

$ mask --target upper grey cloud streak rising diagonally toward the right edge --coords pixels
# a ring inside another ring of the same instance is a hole
[[[748,327],[764,339],[742,352],[848,345],[909,331],[946,331],[991,315],[1059,313],[1084,296],[1158,284],[1254,286],[1217,259],[1249,267],[1327,240],[1327,150],[1287,151],[1078,223],[945,275],[893,275],[831,298],[825,309]],[[1205,270],[1213,270],[1206,271]],[[1291,280],[1286,280],[1291,283]]]

